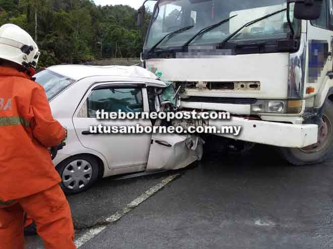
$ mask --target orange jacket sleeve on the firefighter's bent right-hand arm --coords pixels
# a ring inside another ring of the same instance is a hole
[[[35,88],[32,93],[31,109],[33,118],[31,129],[33,136],[45,147],[60,144],[66,136],[66,130],[54,120],[46,94],[41,86]]]

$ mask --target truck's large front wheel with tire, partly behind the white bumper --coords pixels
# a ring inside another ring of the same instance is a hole
[[[280,148],[282,155],[294,165],[317,164],[333,154],[333,103],[324,104],[318,142],[304,148]]]

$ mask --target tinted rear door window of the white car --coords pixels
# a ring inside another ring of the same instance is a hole
[[[92,91],[87,99],[89,118],[96,117],[97,110],[105,112],[143,112],[141,88],[107,88]]]

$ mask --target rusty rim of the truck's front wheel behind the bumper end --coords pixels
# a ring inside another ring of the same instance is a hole
[[[326,115],[323,115],[322,122],[318,134],[318,142],[310,146],[301,148],[300,150],[305,153],[316,153],[328,144],[329,138],[331,137],[332,126],[331,122]]]

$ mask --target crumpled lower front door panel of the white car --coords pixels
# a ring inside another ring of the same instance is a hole
[[[197,136],[154,134],[146,171],[178,170],[201,160],[203,141]]]

